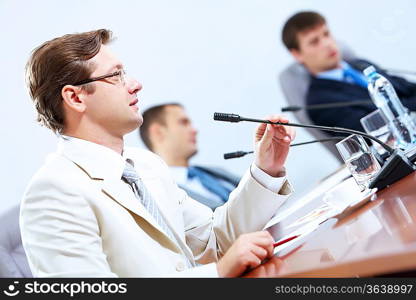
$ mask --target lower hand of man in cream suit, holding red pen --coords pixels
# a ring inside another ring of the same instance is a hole
[[[273,237],[267,231],[242,234],[217,263],[220,277],[237,277],[273,256]]]

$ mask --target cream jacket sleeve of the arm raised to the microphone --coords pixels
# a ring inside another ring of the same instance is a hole
[[[248,170],[214,212],[185,196],[185,237],[195,259],[202,264],[217,261],[241,234],[262,230],[291,192],[287,180],[280,190],[270,191]]]

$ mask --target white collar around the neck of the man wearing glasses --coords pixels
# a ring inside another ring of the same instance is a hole
[[[93,179],[120,179],[126,157],[87,140],[61,136],[58,152],[81,167]]]

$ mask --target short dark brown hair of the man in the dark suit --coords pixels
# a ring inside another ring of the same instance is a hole
[[[297,35],[326,23],[325,18],[317,12],[303,11],[293,15],[286,21],[282,30],[282,41],[288,50],[299,50]]]

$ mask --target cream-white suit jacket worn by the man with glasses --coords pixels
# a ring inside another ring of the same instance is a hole
[[[189,198],[155,154],[69,138],[32,178],[21,204],[23,247],[35,277],[212,277],[242,233],[258,231],[291,192],[264,188],[248,171],[212,212]],[[176,235],[172,241],[121,180],[125,159]],[[186,259],[201,266],[186,268]]]

